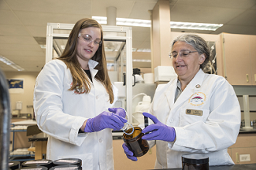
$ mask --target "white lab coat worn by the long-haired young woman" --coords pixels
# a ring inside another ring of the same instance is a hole
[[[83,122],[106,111],[109,94],[95,79],[98,62],[90,60],[91,91],[69,91],[72,75],[63,61],[49,61],[35,83],[34,108],[39,128],[49,135],[46,158],[80,158],[83,170],[113,169],[112,131],[106,128],[92,133],[78,131]]]

